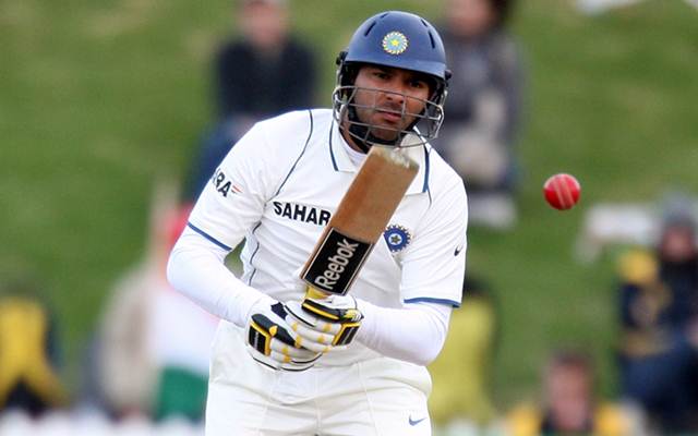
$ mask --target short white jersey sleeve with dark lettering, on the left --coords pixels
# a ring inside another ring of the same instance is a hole
[[[255,124],[228,153],[202,191],[189,227],[216,245],[232,250],[262,218],[276,185],[263,124]]]

